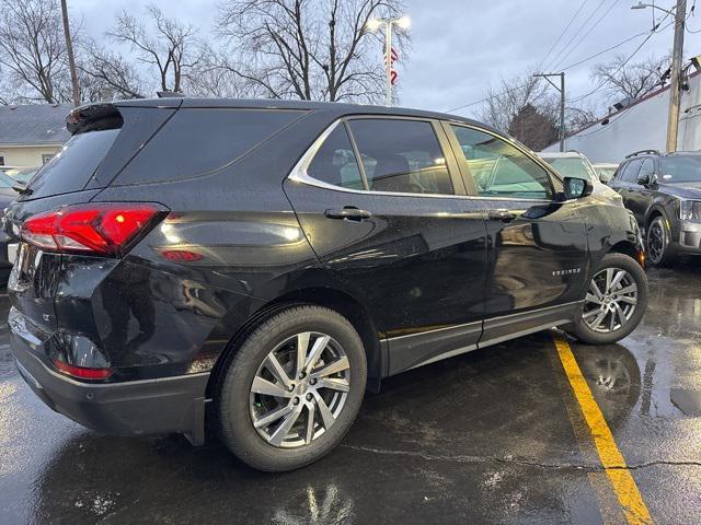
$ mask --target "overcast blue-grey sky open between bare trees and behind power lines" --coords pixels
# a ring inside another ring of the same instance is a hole
[[[69,0],[68,3],[71,15],[82,18],[83,27],[96,36],[110,27],[114,14],[119,10],[127,9],[139,14],[148,3],[156,3],[166,13],[200,26],[206,35],[210,31],[217,2]],[[410,0],[406,14],[412,19],[413,44],[409,60],[400,66],[401,104],[448,110],[479,101],[484,97],[486,86],[496,84],[502,75],[533,70],[584,4],[544,63],[549,66],[548,62],[558,54],[561,57],[552,67],[562,68],[577,62],[652,28],[653,10],[631,10],[633,3],[637,3],[637,0]],[[675,2],[657,0],[655,3],[669,9]],[[694,0],[688,0],[688,9],[693,3]],[[655,13],[657,20],[664,16],[662,11],[656,10]],[[581,31],[587,19],[588,23]],[[670,21],[668,18],[663,26]],[[688,25],[692,31],[701,30],[701,8],[698,16],[689,18]],[[586,38],[575,46],[589,30]],[[674,27],[669,26],[653,35],[633,60],[652,54],[664,56],[671,48]],[[567,97],[593,89],[595,84],[589,71],[597,60],[611,58],[616,52],[628,56],[644,38],[637,37],[597,59],[567,70]],[[687,32],[685,40],[686,57],[701,54],[701,32]],[[381,59],[381,49],[378,49],[378,60]],[[470,116],[475,109],[476,106],[471,106],[455,113]]]

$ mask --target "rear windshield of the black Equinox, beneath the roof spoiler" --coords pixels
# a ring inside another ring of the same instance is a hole
[[[82,189],[119,135],[119,129],[76,135],[32,179],[32,197]]]

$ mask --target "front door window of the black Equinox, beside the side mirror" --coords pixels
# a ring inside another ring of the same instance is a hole
[[[528,155],[483,131],[462,126],[452,129],[480,196],[543,200],[553,197],[550,175]]]

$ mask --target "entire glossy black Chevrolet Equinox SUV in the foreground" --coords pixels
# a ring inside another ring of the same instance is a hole
[[[612,342],[647,303],[628,210],[471,120],[164,98],[67,126],[7,212],[9,324],[36,394],[100,431],[209,419],[287,470],[382,377],[558,325]]]

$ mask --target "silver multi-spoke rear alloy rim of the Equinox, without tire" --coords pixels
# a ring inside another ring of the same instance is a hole
[[[255,373],[251,421],[278,447],[310,444],[335,423],[350,389],[350,363],[331,336],[304,331],[274,348]]]

